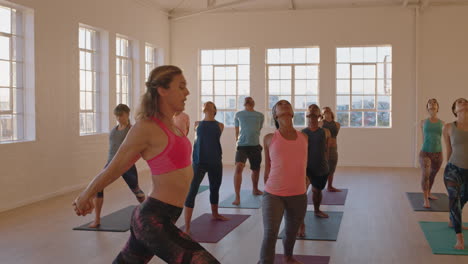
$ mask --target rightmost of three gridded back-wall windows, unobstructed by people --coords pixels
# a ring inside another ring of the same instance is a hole
[[[343,127],[391,127],[392,47],[337,48],[336,94]]]

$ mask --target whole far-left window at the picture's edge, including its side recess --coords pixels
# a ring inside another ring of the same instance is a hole
[[[35,137],[32,21],[31,11],[0,5],[0,143]]]

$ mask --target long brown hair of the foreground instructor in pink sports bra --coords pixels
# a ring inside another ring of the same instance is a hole
[[[182,74],[182,70],[173,65],[159,66],[151,71],[146,82],[146,92],[141,98],[138,120],[150,118],[159,112],[158,88],[169,89],[169,84],[179,74]]]

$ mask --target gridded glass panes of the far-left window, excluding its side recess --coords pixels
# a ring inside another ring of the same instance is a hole
[[[24,139],[22,17],[0,5],[0,143]]]

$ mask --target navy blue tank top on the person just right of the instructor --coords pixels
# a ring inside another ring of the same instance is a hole
[[[193,144],[193,163],[219,163],[222,160],[221,129],[218,121],[200,121]]]

